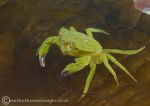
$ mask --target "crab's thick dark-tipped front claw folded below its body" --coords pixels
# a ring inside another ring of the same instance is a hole
[[[71,63],[67,65],[64,70],[61,72],[62,76],[67,76],[70,74],[74,74],[78,71],[80,71],[82,68],[87,66],[91,60],[90,56],[85,56],[81,58],[76,58],[75,61],[76,63]]]

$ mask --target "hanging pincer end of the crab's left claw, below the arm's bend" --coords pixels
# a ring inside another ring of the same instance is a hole
[[[42,67],[45,67],[45,57],[48,53],[49,45],[42,44],[37,51],[37,55],[39,55],[39,62]]]

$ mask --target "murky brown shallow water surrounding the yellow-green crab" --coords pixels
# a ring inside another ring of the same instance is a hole
[[[89,68],[62,77],[60,72],[74,58],[53,46],[41,68],[36,50],[62,26],[103,28],[110,37],[95,34],[103,48],[137,49],[137,55],[114,55],[135,76],[134,83],[118,67],[120,87],[103,65],[98,65],[87,96],[78,102]],[[62,99],[53,106],[150,106],[150,16],[127,0],[1,0],[0,98]],[[49,103],[10,103],[10,106],[47,106]],[[3,103],[0,102],[0,106]]]

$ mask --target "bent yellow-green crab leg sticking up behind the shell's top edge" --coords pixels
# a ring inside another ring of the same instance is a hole
[[[97,29],[97,28],[87,28],[87,29],[85,29],[85,31],[86,31],[87,35],[88,35],[89,37],[92,37],[92,38],[93,38],[93,34],[92,34],[92,32],[100,32],[100,33],[103,33],[103,34],[109,35],[109,33],[108,33],[108,32],[106,32],[106,31],[104,31],[103,29]]]

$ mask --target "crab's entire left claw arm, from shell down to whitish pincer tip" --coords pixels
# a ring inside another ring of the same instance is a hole
[[[50,46],[52,44],[57,44],[57,42],[58,37],[48,37],[39,47],[37,55],[39,55],[39,61],[42,67],[45,67],[45,56],[47,55]]]

